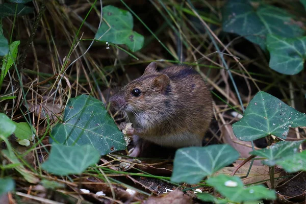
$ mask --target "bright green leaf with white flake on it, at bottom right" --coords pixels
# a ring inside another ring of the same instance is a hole
[[[244,202],[259,199],[275,200],[275,192],[264,186],[244,187],[239,177],[224,174],[211,177],[206,181],[213,186],[221,195],[234,202]]]

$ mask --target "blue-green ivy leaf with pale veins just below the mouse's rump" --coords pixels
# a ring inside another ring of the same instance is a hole
[[[171,181],[196,184],[238,158],[239,153],[228,144],[180,148],[175,152]]]

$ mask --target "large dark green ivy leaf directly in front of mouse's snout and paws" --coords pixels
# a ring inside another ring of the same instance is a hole
[[[101,155],[125,149],[126,142],[102,101],[88,95],[71,98],[63,122],[52,130],[50,143],[68,146],[90,144]]]

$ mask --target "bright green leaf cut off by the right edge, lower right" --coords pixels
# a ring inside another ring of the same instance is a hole
[[[276,161],[276,164],[282,166],[289,173],[297,171],[306,171],[306,150],[293,156],[288,156],[282,160]]]

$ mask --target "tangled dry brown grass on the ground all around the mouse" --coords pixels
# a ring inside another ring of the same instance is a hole
[[[14,121],[27,121],[35,127],[35,145],[30,150],[22,149],[20,155],[24,156],[23,164],[31,167],[27,173],[66,185],[64,189],[50,191],[14,174],[17,192],[9,194],[12,203],[68,203],[68,197],[70,203],[85,203],[85,200],[92,203],[140,202],[151,194],[176,187],[169,182],[169,160],[143,160],[142,164],[129,160],[132,168],[120,171],[126,158],[108,155],[101,158],[96,168],[82,176],[71,177],[48,175],[38,165],[46,159],[49,130],[57,121],[56,116],[44,117],[42,106],[49,116],[52,112],[59,116],[70,97],[88,94],[107,101],[114,88],[139,77],[151,61],[157,61],[162,68],[180,62],[191,64],[207,81],[214,96],[216,120],[208,144],[222,143],[224,135],[230,135],[231,130],[226,125],[238,120],[231,112],[242,113],[259,90],[284,99],[300,112],[306,111],[304,72],[291,77],[278,74],[268,68],[268,56],[259,47],[243,38],[222,33],[220,8],[223,1],[191,1],[193,6],[175,0],[124,1],[144,22],[142,24],[134,16],[134,29],[145,36],[144,47],[132,53],[135,57],[115,46],[106,49],[104,43],[94,42],[90,47],[100,23],[101,2],[104,6],[112,4],[128,10],[123,1],[59,2],[45,1],[45,10],[38,20],[44,5],[42,0],[33,1],[35,14],[17,17],[15,24],[13,18],[3,20],[6,37],[21,41],[19,60],[22,55],[27,56],[24,63],[19,61],[10,70],[5,80],[0,94],[16,98],[1,101],[1,112]],[[37,31],[33,33],[35,26]],[[28,46],[31,37],[33,41]],[[214,42],[220,53],[226,55],[217,53]],[[81,186],[91,192],[102,190],[106,196],[96,198],[80,194]],[[131,196],[126,188],[133,188],[138,194]],[[192,191],[186,193],[194,196]]]

